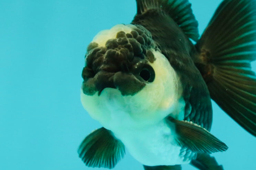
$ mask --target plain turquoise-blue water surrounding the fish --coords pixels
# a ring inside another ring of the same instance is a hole
[[[190,2],[201,34],[221,0]],[[77,155],[101,127],[79,98],[86,47],[135,13],[135,0],[0,0],[1,170],[92,170]],[[217,161],[226,170],[256,169],[256,138],[215,103],[213,111],[211,132],[229,146],[213,154]],[[130,169],[142,166],[127,151],[115,170]]]

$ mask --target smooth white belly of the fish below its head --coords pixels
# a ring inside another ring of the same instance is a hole
[[[190,162],[188,159],[184,160],[184,155],[180,156],[181,147],[174,142],[174,129],[167,126],[164,120],[144,129],[119,129],[114,134],[143,165],[177,165]]]

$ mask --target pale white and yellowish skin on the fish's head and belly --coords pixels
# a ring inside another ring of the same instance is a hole
[[[116,38],[121,31],[130,33],[130,27],[138,29],[135,25],[117,25],[96,35],[93,42],[100,44],[98,38],[104,40],[101,35],[107,32],[107,35],[113,34],[112,38]],[[108,39],[110,38],[107,37],[105,41]],[[102,44],[105,46],[105,43]],[[114,88],[104,88],[100,95],[95,93],[93,96],[85,95],[81,91],[82,104],[90,116],[111,130],[143,165],[188,163],[189,159],[179,156],[182,148],[173,145],[175,130],[164,120],[167,116],[184,119],[185,104],[181,97],[179,77],[160,51],[154,48],[148,50],[155,58],[152,63],[148,62],[155,73],[152,83],[147,84],[136,95],[123,96]],[[172,155],[178,157],[175,159]]]

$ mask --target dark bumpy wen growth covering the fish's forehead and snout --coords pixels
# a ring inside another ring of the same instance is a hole
[[[147,81],[140,71],[156,58],[150,49],[159,50],[150,32],[139,25],[131,33],[120,31],[107,40],[105,47],[91,42],[87,47],[86,63],[82,71],[82,88],[86,95],[98,95],[104,88],[118,88],[123,96],[135,95]]]

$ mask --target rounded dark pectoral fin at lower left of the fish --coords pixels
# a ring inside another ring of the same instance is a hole
[[[88,167],[111,169],[124,157],[125,146],[111,131],[102,127],[85,137],[78,154]]]

